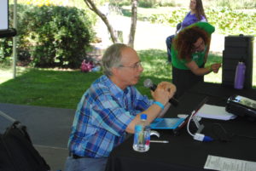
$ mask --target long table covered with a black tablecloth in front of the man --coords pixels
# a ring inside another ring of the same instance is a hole
[[[190,113],[205,97],[209,98],[207,104],[224,106],[232,94],[256,100],[255,89],[236,90],[225,88],[221,84],[200,83],[185,93],[180,98],[178,107],[171,107],[165,117],[177,117],[179,113]],[[133,136],[131,136],[113,149],[108,157],[106,171],[207,170],[204,169],[204,165],[208,155],[256,162],[256,123],[244,117],[230,121],[202,119],[201,123],[205,125],[203,134],[221,140],[212,142],[193,140],[185,128],[179,135],[174,135],[171,130],[161,130],[160,138],[151,137],[152,140],[169,140],[169,143],[151,143],[149,151],[140,153],[133,151]],[[234,136],[226,140],[225,134],[216,124],[221,124],[230,136],[239,134],[252,136],[254,139]],[[214,134],[215,132],[218,132],[218,137]]]

